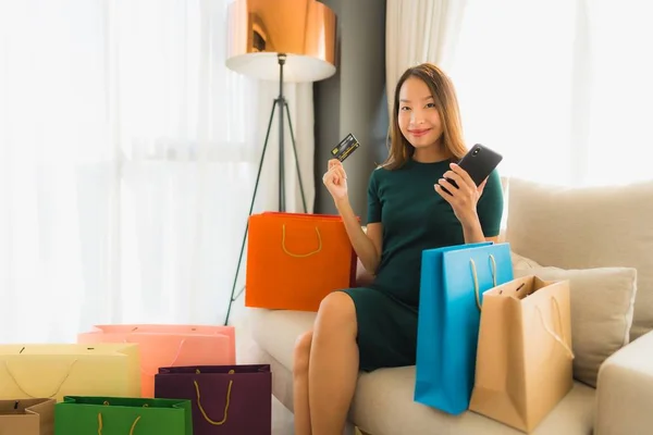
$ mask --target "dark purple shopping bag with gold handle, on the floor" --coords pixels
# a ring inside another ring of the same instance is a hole
[[[155,397],[193,402],[195,435],[271,435],[269,364],[161,368]]]

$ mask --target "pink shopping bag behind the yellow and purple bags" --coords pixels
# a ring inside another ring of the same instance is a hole
[[[78,344],[135,343],[140,349],[141,396],[153,397],[159,368],[236,363],[233,326],[96,325]]]

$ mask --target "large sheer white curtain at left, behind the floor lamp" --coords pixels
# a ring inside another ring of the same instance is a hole
[[[0,343],[223,322],[278,91],[224,66],[229,2],[0,2]],[[312,87],[285,90],[310,212]]]

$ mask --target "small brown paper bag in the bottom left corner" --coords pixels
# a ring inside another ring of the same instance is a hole
[[[0,400],[0,435],[54,435],[54,399]]]

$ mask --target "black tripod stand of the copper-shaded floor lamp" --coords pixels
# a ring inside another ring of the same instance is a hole
[[[291,120],[291,111],[288,109],[288,102],[286,101],[283,95],[283,67],[286,61],[285,53],[278,54],[278,63],[279,63],[279,96],[274,99],[272,103],[272,111],[270,113],[270,121],[268,122],[268,130],[266,133],[266,141],[263,142],[263,150],[261,152],[261,159],[258,166],[258,173],[256,175],[256,183],[254,185],[254,194],[251,195],[251,203],[249,206],[249,213],[247,216],[251,215],[254,211],[254,203],[256,201],[256,192],[258,190],[258,185],[261,178],[261,170],[263,169],[263,162],[266,160],[266,150],[268,149],[268,139],[270,138],[270,129],[272,128],[272,120],[274,119],[274,113],[276,109],[279,109],[279,211],[285,211],[285,125],[284,119],[287,116],[288,127],[291,133],[291,141],[293,142],[293,153],[295,157],[295,167],[297,170],[297,178],[299,179],[299,191],[301,192],[301,206],[304,207],[304,213],[307,213],[306,208],[306,196],[304,195],[304,184],[301,183],[301,173],[299,172],[299,160],[297,159],[297,146],[295,144],[295,133],[293,132],[293,122]],[[245,225],[245,234],[243,235],[243,244],[241,245],[241,254],[238,256],[238,264],[236,266],[236,273],[234,276],[234,284],[232,286],[232,293],[230,296],[229,308],[226,310],[226,318],[224,320],[224,325],[229,324],[229,316],[231,314],[231,309],[233,303],[241,297],[243,291],[245,291],[245,286],[241,288],[241,290],[236,294],[236,284],[238,281],[238,273],[241,272],[241,264],[243,262],[243,253],[245,251],[245,243],[247,240],[247,233],[249,231],[249,220],[247,220],[247,224]]]

